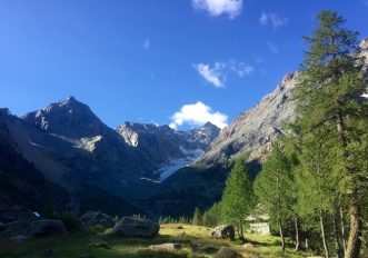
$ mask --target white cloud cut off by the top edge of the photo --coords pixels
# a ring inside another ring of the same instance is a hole
[[[230,19],[240,14],[242,9],[242,0],[191,0],[191,4],[196,10],[206,10],[213,17],[226,13]]]

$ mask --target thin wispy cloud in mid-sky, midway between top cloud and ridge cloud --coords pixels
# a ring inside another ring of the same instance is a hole
[[[238,62],[233,59],[223,62],[215,62],[213,66],[207,63],[192,64],[198,73],[207,80],[209,83],[213,85],[216,88],[223,88],[227,77],[230,73],[235,73],[242,78],[256,71],[256,69],[246,64],[245,62]]]

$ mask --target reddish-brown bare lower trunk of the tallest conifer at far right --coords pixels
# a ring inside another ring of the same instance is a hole
[[[349,240],[345,252],[345,258],[358,258],[360,254],[360,231],[361,231],[361,221],[360,221],[360,207],[352,200],[350,205],[350,232]]]

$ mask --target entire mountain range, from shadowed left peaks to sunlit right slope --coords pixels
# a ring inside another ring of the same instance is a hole
[[[368,58],[368,39],[355,54]],[[248,157],[252,177],[260,170],[295,119],[299,76],[286,75],[222,130],[210,122],[187,131],[136,122],[112,129],[73,97],[23,117],[0,109],[0,199],[8,204],[0,216],[13,205],[156,217],[208,208],[220,199],[235,158]]]

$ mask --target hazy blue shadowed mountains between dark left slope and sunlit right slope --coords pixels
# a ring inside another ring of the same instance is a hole
[[[219,132],[210,123],[185,132],[132,122],[113,130],[73,97],[23,118],[8,110],[1,113],[2,131],[12,139],[19,159],[34,165],[33,170],[72,197],[72,208],[81,211],[99,207],[120,215],[143,212],[137,199],[197,159]],[[37,189],[32,176],[26,179]]]

